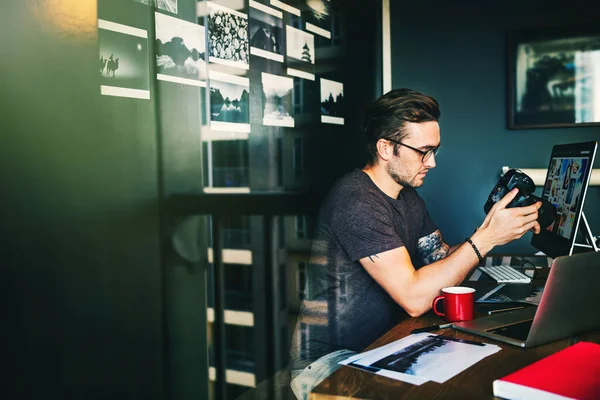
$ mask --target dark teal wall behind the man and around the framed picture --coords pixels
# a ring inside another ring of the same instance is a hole
[[[546,168],[554,144],[600,139],[600,127],[507,129],[507,30],[582,22],[593,8],[592,1],[391,1],[393,87],[431,94],[442,110],[443,147],[420,193],[449,243],[481,224],[503,165]],[[596,235],[598,204],[600,188],[590,187],[584,211]],[[530,240],[494,252],[531,253]]]

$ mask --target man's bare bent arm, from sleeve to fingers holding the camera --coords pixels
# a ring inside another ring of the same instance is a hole
[[[537,222],[541,203],[527,207],[506,208],[518,192],[512,191],[497,202],[471,240],[482,255],[492,248],[522,237],[533,229],[539,233]],[[441,241],[441,236],[439,239]],[[444,251],[443,245],[432,252],[435,258]],[[447,250],[446,250],[447,251]],[[440,290],[461,283],[478,264],[479,259],[469,243],[462,244],[451,254],[415,270],[405,247],[360,259],[365,270],[406,312],[413,317],[431,308]]]

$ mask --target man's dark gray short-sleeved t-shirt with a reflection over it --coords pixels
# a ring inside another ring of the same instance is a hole
[[[419,268],[417,241],[436,229],[413,188],[393,199],[359,169],[338,180],[319,214],[292,368],[340,349],[362,351],[406,318],[358,260],[405,246]]]

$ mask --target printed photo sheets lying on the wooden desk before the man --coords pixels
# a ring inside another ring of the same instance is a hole
[[[500,350],[499,346],[493,344],[417,333],[356,354],[340,364],[421,385],[427,381],[446,382]]]

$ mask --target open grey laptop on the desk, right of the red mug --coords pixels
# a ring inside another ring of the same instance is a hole
[[[454,328],[520,347],[600,329],[599,286],[600,252],[557,257],[537,307],[456,322]]]

